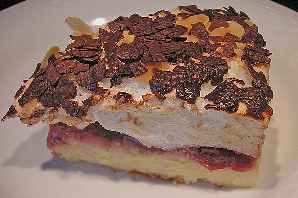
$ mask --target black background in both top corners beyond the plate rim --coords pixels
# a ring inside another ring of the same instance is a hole
[[[24,0],[0,0],[0,10],[10,7]],[[298,0],[272,0],[298,12]]]

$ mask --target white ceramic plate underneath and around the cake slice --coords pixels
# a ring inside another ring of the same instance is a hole
[[[31,128],[18,119],[0,123],[1,198],[294,198],[298,197],[298,13],[263,0],[28,0],[0,12],[0,115],[10,106],[21,81],[31,75],[47,49],[71,42],[64,18],[92,24],[119,15],[147,15],[160,9],[196,4],[232,5],[245,11],[273,53],[270,70],[274,114],[266,131],[259,183],[253,189],[216,188],[208,183],[179,185],[143,176],[111,173],[109,168],[53,158],[45,140],[48,126]],[[93,25],[96,30],[99,26]]]

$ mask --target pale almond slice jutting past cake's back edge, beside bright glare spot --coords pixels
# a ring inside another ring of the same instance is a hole
[[[74,31],[79,31],[82,34],[93,35],[94,32],[90,26],[77,17],[68,17],[64,20],[66,24]]]

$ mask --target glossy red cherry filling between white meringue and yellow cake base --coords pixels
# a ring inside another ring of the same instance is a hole
[[[69,140],[72,139],[79,142],[94,143],[103,148],[129,148],[143,154],[178,154],[200,163],[209,171],[231,168],[234,171],[245,172],[253,169],[257,160],[252,156],[214,147],[186,147],[166,150],[156,147],[148,148],[131,136],[104,129],[98,122],[89,124],[84,129],[62,123],[50,125],[47,138],[48,148],[51,149],[57,144],[68,144]],[[59,156],[59,153],[53,154]]]

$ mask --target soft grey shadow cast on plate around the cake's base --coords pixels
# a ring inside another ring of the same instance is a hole
[[[272,120],[274,122],[274,120]],[[51,158],[50,151],[46,147],[46,133],[47,127],[43,127],[41,132],[32,134],[29,139],[19,145],[14,151],[13,155],[8,158],[3,166],[16,166],[21,168],[40,167],[42,171],[53,171],[60,175],[61,178],[67,179],[74,175],[79,177],[95,177],[111,179],[113,181],[129,180],[130,176],[124,171],[113,173],[110,168],[88,164],[85,162],[67,162],[61,158]],[[266,130],[265,145],[263,147],[263,154],[261,160],[261,170],[259,174],[258,187],[255,189],[270,189],[274,188],[279,180],[277,176],[280,170],[276,163],[277,150],[277,133],[276,129],[269,128]],[[172,185],[171,181],[159,179],[153,181],[146,176],[139,175],[137,178],[131,178],[136,182],[149,182],[154,185]],[[185,184],[179,184],[185,185]],[[208,191],[233,191],[235,188],[229,187],[215,187],[209,183],[198,182],[188,186],[189,188],[205,189]],[[245,189],[244,189],[245,190]],[[249,189],[247,189],[249,190]]]

